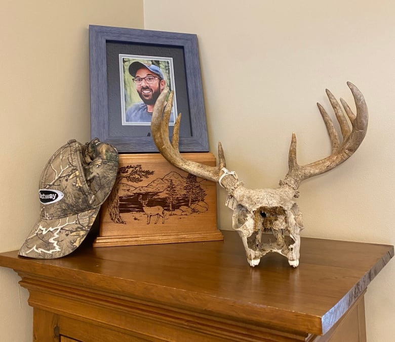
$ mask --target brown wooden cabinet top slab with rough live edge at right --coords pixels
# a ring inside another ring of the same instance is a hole
[[[242,241],[92,248],[38,260],[17,251],[0,266],[125,301],[222,317],[241,324],[327,332],[393,257],[393,246],[302,238],[300,264],[269,254],[251,268]]]

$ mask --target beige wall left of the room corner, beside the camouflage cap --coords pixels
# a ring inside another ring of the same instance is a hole
[[[2,2],[0,252],[19,249],[36,221],[49,157],[71,138],[90,139],[89,24],[143,28],[143,2]],[[31,341],[32,310],[19,279],[0,268],[4,342]]]

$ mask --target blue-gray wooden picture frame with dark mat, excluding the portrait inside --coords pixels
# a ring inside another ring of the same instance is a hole
[[[119,99],[116,99],[122,96],[120,92],[116,94],[120,74],[113,66],[115,62],[112,63],[112,55],[125,51],[146,54],[146,50],[154,49],[163,55],[174,53],[179,56],[176,93],[177,101],[184,102],[180,152],[209,152],[198,38],[195,34],[89,25],[89,47],[92,138],[114,145],[119,153],[158,152],[149,132],[140,131],[141,127],[120,126]],[[173,127],[169,128],[171,134]]]

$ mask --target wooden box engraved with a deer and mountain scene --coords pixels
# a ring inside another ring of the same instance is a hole
[[[215,166],[211,153],[186,153]],[[182,171],[161,154],[120,155],[114,188],[100,210],[94,247],[222,240],[216,183]]]

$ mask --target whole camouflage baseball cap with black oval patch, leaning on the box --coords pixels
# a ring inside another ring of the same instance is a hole
[[[18,254],[55,259],[80,246],[111,192],[118,158],[97,138],[85,145],[69,140],[56,151],[39,181],[40,218]]]

